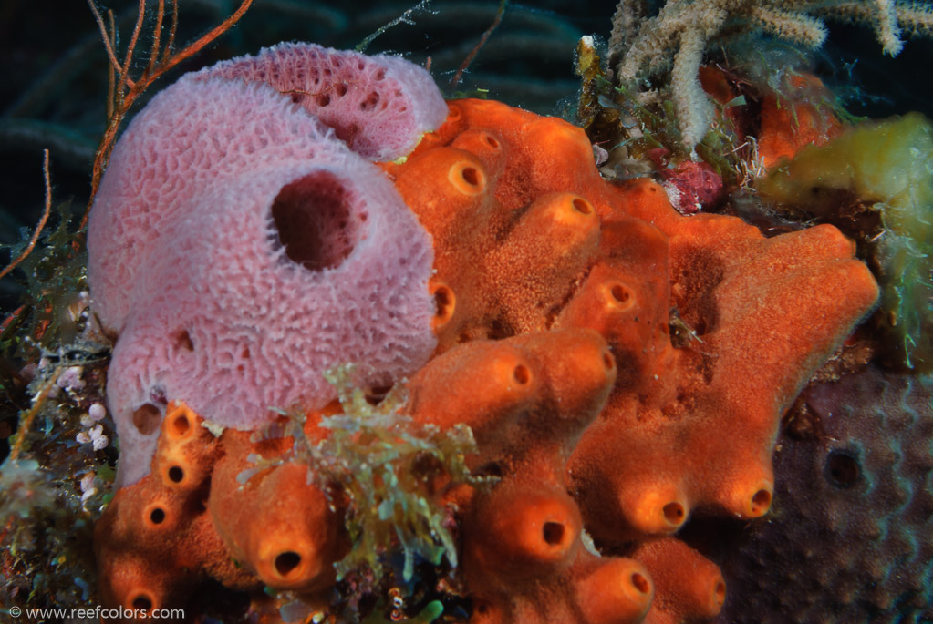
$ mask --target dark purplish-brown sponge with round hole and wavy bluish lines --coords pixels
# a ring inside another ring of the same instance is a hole
[[[813,384],[775,454],[780,509],[723,563],[723,624],[922,622],[933,600],[933,384],[873,365]],[[815,505],[815,501],[819,504]],[[853,545],[857,544],[857,548]]]

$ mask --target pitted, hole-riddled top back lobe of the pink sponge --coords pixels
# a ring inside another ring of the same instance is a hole
[[[195,75],[264,82],[298,102],[370,160],[405,156],[447,117],[428,73],[397,57],[284,43]]]

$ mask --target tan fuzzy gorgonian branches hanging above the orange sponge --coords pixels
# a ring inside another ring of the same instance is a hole
[[[933,36],[933,6],[897,0],[667,0],[644,19],[644,0],[620,0],[609,59],[614,79],[636,94],[670,86],[684,145],[693,153],[709,128],[712,103],[696,75],[704,52],[730,38],[765,31],[805,47],[820,47],[823,19],[868,24],[884,52],[896,56],[902,34]],[[703,119],[707,121],[703,123]]]

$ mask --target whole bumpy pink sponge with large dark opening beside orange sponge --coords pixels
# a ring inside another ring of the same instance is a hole
[[[94,310],[118,334],[118,485],[148,472],[167,400],[252,428],[332,400],[328,367],[382,385],[425,362],[430,237],[351,147],[403,156],[446,113],[407,61],[288,44],[183,76],[133,119],[88,232]]]

